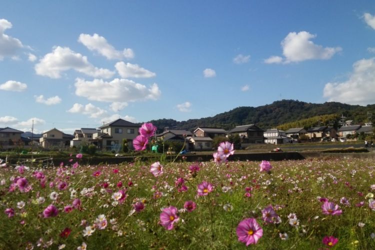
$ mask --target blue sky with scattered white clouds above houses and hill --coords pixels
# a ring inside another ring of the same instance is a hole
[[[375,103],[372,1],[2,1],[0,127]]]

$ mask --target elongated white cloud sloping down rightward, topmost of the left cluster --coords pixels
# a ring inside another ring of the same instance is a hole
[[[131,48],[125,48],[123,51],[116,50],[107,40],[96,33],[93,35],[80,34],[78,41],[85,45],[89,50],[96,51],[107,59],[133,58],[134,52]]]

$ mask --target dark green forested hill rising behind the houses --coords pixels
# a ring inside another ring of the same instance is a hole
[[[335,114],[329,117],[335,117],[336,121],[338,121],[339,116],[343,114],[347,117],[347,120],[353,120],[355,123],[360,124],[367,121],[367,111],[375,114],[375,104],[360,106],[340,102],[309,103],[298,100],[279,100],[258,107],[236,107],[230,111],[219,113],[212,117],[188,119],[186,121],[164,118],[151,120],[149,122],[152,122],[158,128],[158,132],[162,131],[164,127],[191,131],[198,126],[221,127],[229,130],[238,125],[252,123],[255,123],[263,129],[268,129],[314,116],[317,116],[317,122],[318,116],[326,114]],[[319,124],[317,123],[316,125]]]

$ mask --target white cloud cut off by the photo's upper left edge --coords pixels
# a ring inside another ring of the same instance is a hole
[[[17,50],[23,47],[20,40],[4,34],[5,29],[11,27],[12,25],[8,20],[0,19],[0,60],[5,56],[14,56]]]

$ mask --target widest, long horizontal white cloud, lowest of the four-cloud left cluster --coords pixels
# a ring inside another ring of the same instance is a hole
[[[111,81],[75,79],[75,94],[89,100],[106,102],[129,102],[159,98],[161,92],[156,83],[149,88],[128,79],[115,78]]]

